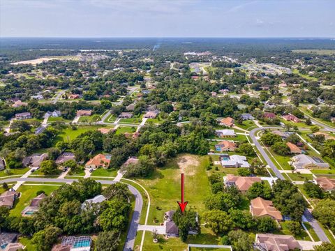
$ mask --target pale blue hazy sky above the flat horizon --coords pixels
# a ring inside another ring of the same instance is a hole
[[[0,0],[0,36],[335,37],[335,0]]]

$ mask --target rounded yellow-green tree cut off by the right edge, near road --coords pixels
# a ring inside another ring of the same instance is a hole
[[[332,199],[323,199],[318,202],[313,210],[313,216],[323,225],[330,227],[335,231],[335,201]]]

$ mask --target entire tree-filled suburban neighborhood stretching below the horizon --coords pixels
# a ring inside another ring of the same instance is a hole
[[[334,250],[334,41],[66,41],[1,45],[1,251]]]

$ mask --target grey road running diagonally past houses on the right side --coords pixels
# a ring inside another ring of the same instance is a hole
[[[274,162],[271,161],[271,159],[269,158],[269,156],[267,155],[265,150],[262,149],[262,146],[260,145],[260,142],[258,142],[258,140],[255,137],[256,132],[258,132],[259,130],[265,130],[265,129],[278,129],[278,127],[255,128],[255,129],[251,130],[250,137],[253,141],[253,144],[255,144],[258,151],[260,151],[260,154],[262,154],[263,158],[267,162],[267,165],[269,165],[269,167],[271,167],[272,171],[274,171],[274,173],[276,174],[276,176],[278,178],[283,180],[283,179],[285,179],[283,174],[281,174],[281,172],[279,172],[276,165],[274,165]],[[311,214],[310,211],[308,211],[308,209],[306,209],[304,211],[303,217],[306,218],[306,220],[309,222],[309,224],[311,224],[311,226],[313,227],[313,229],[315,231],[315,234],[317,234],[318,237],[320,238],[320,241],[330,242],[329,238],[325,234],[325,231],[323,231],[323,229],[320,227],[319,223],[313,218],[313,215]]]

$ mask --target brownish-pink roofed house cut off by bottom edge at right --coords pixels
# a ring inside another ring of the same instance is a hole
[[[255,243],[267,251],[302,250],[293,236],[283,234],[256,234]]]

